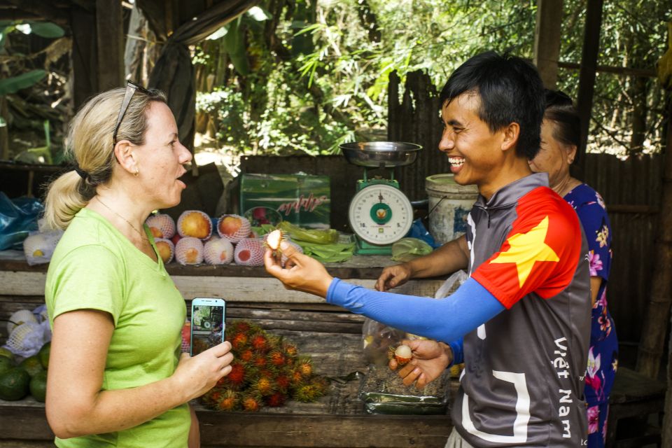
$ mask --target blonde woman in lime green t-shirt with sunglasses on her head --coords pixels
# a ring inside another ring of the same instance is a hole
[[[180,202],[191,160],[165,97],[128,83],[70,126],[76,168],[49,188],[65,233],[45,298],[53,339],[46,413],[58,447],[197,447],[188,401],[230,372],[230,344],[180,353],[186,307],[145,218]],[[190,432],[191,431],[191,432]]]

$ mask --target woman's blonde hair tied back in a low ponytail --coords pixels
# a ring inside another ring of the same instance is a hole
[[[66,172],[53,181],[45,199],[45,226],[65,229],[80,209],[96,195],[96,187],[112,177],[114,155],[112,134],[126,90],[97,94],[72,119],[66,137],[65,156],[78,171]],[[151,102],[166,102],[159,90],[136,90],[117,132],[117,141],[144,144],[146,110]]]

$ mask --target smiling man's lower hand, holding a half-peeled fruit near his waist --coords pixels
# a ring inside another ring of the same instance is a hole
[[[416,388],[423,388],[437,379],[453,360],[450,346],[443,342],[414,339],[403,341],[402,344],[409,346],[413,353],[409,363],[402,366],[398,372],[405,386],[415,383]],[[392,370],[397,370],[399,367],[394,358],[390,360],[389,367]]]

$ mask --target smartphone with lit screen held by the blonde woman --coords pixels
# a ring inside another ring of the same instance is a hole
[[[224,342],[225,316],[222,299],[197,297],[191,301],[191,356]]]

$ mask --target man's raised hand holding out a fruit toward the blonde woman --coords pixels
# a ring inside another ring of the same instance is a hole
[[[282,267],[281,255],[267,248],[264,253],[266,271],[279,279],[285,288],[326,297],[333,277],[322,263],[300,253],[287,241],[280,243],[280,251],[287,257],[285,267]]]

